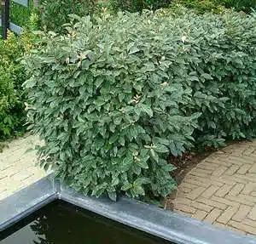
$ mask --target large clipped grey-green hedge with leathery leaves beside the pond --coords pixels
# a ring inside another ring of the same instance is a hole
[[[255,16],[172,15],[73,16],[68,35],[42,33],[24,61],[42,167],[84,194],[166,196],[168,155],[255,136]]]

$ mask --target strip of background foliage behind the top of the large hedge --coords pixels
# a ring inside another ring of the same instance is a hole
[[[198,14],[221,13],[224,7],[250,13],[252,8],[256,8],[256,0],[39,0],[38,4],[36,9],[33,0],[29,0],[29,7],[26,8],[11,1],[11,20],[19,26],[25,26],[30,15],[38,13],[38,26],[41,30],[60,32],[63,31],[62,25],[69,21],[69,14],[93,16],[100,14],[102,7],[114,12],[141,12],[143,9],[168,7],[176,11],[177,4],[181,4],[188,9],[194,9]]]

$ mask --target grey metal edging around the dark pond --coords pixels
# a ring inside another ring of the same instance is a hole
[[[0,201],[0,231],[57,199],[177,244],[256,244],[253,236],[218,229],[142,201],[123,197],[113,202],[82,196],[61,186],[51,176]]]

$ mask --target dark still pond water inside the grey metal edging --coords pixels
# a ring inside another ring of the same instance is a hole
[[[1,244],[173,244],[63,201],[0,233]]]

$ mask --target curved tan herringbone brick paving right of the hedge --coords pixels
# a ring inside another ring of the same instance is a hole
[[[256,140],[208,156],[178,186],[174,211],[256,235]]]

